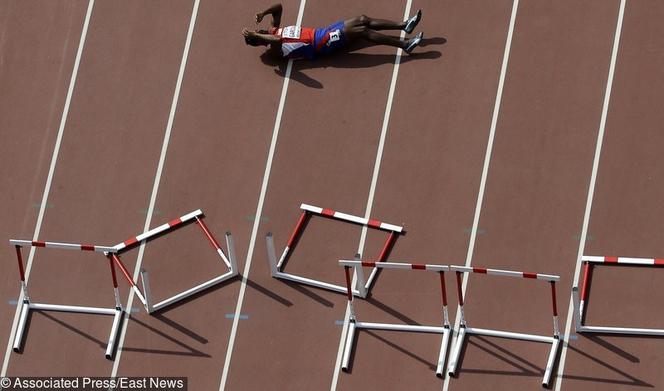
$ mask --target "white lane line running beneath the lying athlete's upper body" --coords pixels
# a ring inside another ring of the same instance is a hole
[[[302,24],[304,16],[304,7],[307,5],[307,0],[300,0],[300,9],[297,14],[296,24]],[[272,170],[272,160],[274,159],[274,152],[277,148],[277,138],[279,137],[279,129],[281,128],[281,116],[284,112],[284,105],[286,104],[286,93],[288,92],[288,83],[290,81],[291,71],[293,69],[293,60],[288,60],[286,66],[286,74],[284,75],[284,84],[281,87],[281,97],[279,98],[279,107],[277,109],[277,117],[274,120],[274,128],[272,129],[272,140],[270,141],[270,150],[267,155],[267,163],[265,164],[265,172],[263,173],[263,183],[261,185],[261,193],[258,197],[258,205],[256,206],[256,213],[254,217],[254,225],[251,229],[251,239],[249,241],[249,250],[247,251],[247,260],[244,264],[244,271],[242,272],[242,280],[240,283],[240,293],[237,298],[237,305],[235,306],[235,315],[233,316],[233,325],[231,326],[231,335],[228,339],[228,347],[226,348],[226,358],[224,360],[224,369],[221,373],[221,381],[219,382],[219,390],[226,389],[226,381],[228,380],[228,372],[231,365],[231,358],[233,356],[233,347],[235,346],[235,337],[237,336],[238,324],[240,321],[240,312],[242,311],[242,304],[244,302],[244,293],[247,290],[247,279],[249,278],[249,271],[251,269],[251,261],[254,255],[254,247],[256,245],[256,237],[258,235],[258,226],[261,222],[263,214],[263,203],[265,202],[265,195],[267,193],[267,185],[270,180],[270,171]]]

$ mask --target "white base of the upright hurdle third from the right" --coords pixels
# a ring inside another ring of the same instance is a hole
[[[440,346],[440,353],[438,355],[438,365],[436,367],[436,376],[442,377],[443,364],[445,362],[445,354],[447,353],[447,346],[450,339],[451,329],[449,326],[422,326],[422,325],[408,325],[408,324],[391,324],[391,323],[374,323],[374,322],[359,322],[351,320],[348,323],[348,334],[346,335],[346,343],[344,345],[343,360],[341,361],[341,370],[348,372],[350,366],[350,355],[355,341],[357,330],[387,330],[387,331],[401,331],[401,332],[418,332],[430,334],[442,334],[443,338]]]

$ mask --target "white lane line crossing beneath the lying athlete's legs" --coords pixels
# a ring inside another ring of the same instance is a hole
[[[410,7],[412,0],[406,1],[406,9],[404,11],[404,20],[408,19],[410,16]],[[406,36],[405,32],[401,32],[401,39]],[[390,114],[392,112],[392,102],[394,101],[394,91],[396,90],[397,85],[397,76],[399,76],[399,64],[401,64],[401,49],[397,49],[397,55],[394,59],[394,69],[392,70],[392,80],[390,81],[390,89],[387,94],[387,104],[385,106],[385,115],[383,116],[383,127],[380,131],[380,141],[378,142],[378,150],[376,152],[376,160],[374,162],[373,175],[371,177],[371,185],[369,187],[369,197],[367,199],[367,208],[364,212],[364,218],[368,219],[371,217],[371,209],[373,207],[374,195],[376,194],[376,185],[378,183],[378,174],[380,172],[380,164],[383,160],[383,150],[385,148],[385,138],[387,137],[387,128],[390,122]],[[358,254],[364,252],[364,244],[367,238],[367,227],[362,227],[362,233],[360,234],[360,243],[357,247]],[[355,274],[355,269],[353,268],[353,282],[355,285],[357,282],[357,275]],[[337,349],[337,358],[334,363],[334,372],[332,374],[332,384],[330,385],[330,391],[335,391],[337,389],[337,384],[339,382],[339,371],[341,369],[341,359],[344,351],[344,343],[346,341],[346,333],[348,331],[348,322],[350,321],[350,304],[346,303],[346,312],[344,313],[344,322],[343,327],[341,328],[341,337],[339,338],[339,347]]]

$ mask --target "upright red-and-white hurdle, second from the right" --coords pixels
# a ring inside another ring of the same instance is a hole
[[[519,272],[512,270],[486,269],[481,267],[467,267],[467,266],[454,266],[454,265],[450,266],[450,270],[456,273],[460,325],[459,325],[459,333],[457,334],[454,348],[452,349],[452,354],[450,355],[450,363],[447,369],[449,375],[454,376],[458,370],[459,367],[458,362],[459,362],[459,356],[461,354],[461,347],[464,344],[466,335],[471,335],[471,334],[485,335],[488,337],[499,337],[499,338],[508,338],[508,339],[518,339],[522,341],[550,343],[551,351],[549,352],[549,358],[547,359],[546,368],[544,370],[544,378],[542,379],[542,386],[548,387],[549,383],[551,382],[553,365],[555,363],[556,355],[558,354],[558,348],[560,346],[558,306],[556,304],[556,282],[560,281],[560,277],[550,274],[528,273],[528,272]],[[463,273],[475,273],[475,274],[487,274],[487,275],[504,276],[504,277],[536,279],[536,280],[549,282],[551,285],[551,303],[553,309],[553,336],[549,337],[544,335],[524,334],[524,333],[515,333],[509,331],[468,327],[468,324],[466,322],[466,317],[463,311],[464,298],[463,298],[463,289],[461,282],[462,280],[461,276]]]

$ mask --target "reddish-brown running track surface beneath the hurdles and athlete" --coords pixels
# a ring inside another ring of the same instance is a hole
[[[113,245],[144,229],[193,4],[95,1],[39,240]],[[521,0],[470,254],[475,266],[559,274],[563,332],[619,5]],[[35,232],[87,6],[0,3],[5,239]],[[336,375],[340,390],[538,387],[545,345],[485,337],[469,339],[458,378],[446,381],[433,373],[438,336],[362,331],[351,373],[337,373],[345,297],[271,278],[265,256],[265,234],[273,232],[283,249],[307,202],[359,216],[370,206],[372,217],[403,223],[407,233],[390,259],[466,262],[512,1],[413,1],[411,13],[424,11],[418,30],[428,39],[419,55],[401,60],[371,198],[394,50],[295,63],[257,219],[286,64],[262,60],[239,32],[264,6],[200,3],[149,224],[201,208],[218,239],[232,231],[246,285],[233,280],[156,315],[134,299],[115,363],[103,357],[110,318],[34,313],[7,375],[109,376],[115,367],[119,376],[187,376],[190,389],[216,390],[226,367],[228,390],[321,390]],[[309,0],[302,23],[362,13],[401,19],[405,6]],[[290,24],[299,2],[284,7]],[[664,256],[662,18],[661,2],[627,2],[589,255]],[[384,240],[385,233],[369,231],[364,243],[358,226],[311,219],[286,271],[343,284],[336,260],[358,250],[374,257]],[[123,256],[130,272],[138,253]],[[18,274],[13,249],[2,254],[0,335],[7,341]],[[141,267],[157,300],[224,269],[193,225],[150,242]],[[660,271],[596,268],[587,321],[664,327]],[[440,323],[438,282],[430,277],[381,272],[372,297],[356,300],[360,320]],[[469,280],[469,325],[550,334],[546,284],[483,277]],[[113,305],[99,254],[40,249],[29,285],[36,301]],[[455,305],[450,314],[454,320]],[[662,352],[661,338],[573,335],[554,382],[564,390],[664,388]]]

